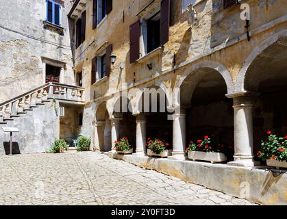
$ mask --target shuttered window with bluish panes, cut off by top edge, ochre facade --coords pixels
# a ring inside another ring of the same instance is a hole
[[[95,29],[107,14],[112,11],[112,0],[93,0],[92,28]]]

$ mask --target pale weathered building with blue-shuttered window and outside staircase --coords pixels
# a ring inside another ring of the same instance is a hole
[[[20,129],[14,140],[21,153],[45,152],[55,139],[79,135],[83,102],[65,93],[84,90],[73,70],[72,6],[68,0],[0,1],[0,123]],[[1,130],[1,144],[8,140]]]

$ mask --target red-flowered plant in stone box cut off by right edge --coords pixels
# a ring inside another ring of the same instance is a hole
[[[268,138],[262,141],[261,151],[257,156],[266,161],[267,166],[277,169],[287,168],[287,136],[278,137],[272,131],[267,131]]]

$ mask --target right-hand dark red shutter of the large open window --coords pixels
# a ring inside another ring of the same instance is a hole
[[[170,0],[162,0],[160,3],[160,44],[162,46],[169,42],[169,18]]]

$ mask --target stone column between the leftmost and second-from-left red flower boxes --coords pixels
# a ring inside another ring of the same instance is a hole
[[[136,153],[134,155],[145,155],[147,142],[147,120],[144,114],[136,116]]]

